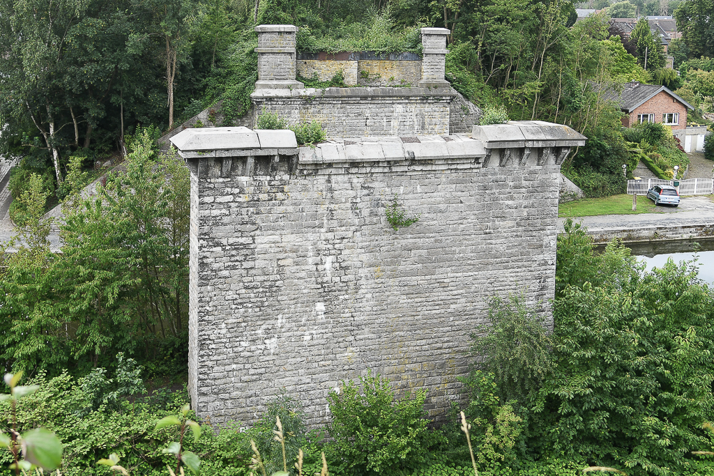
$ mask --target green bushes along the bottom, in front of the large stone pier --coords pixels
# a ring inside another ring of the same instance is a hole
[[[428,425],[428,393],[398,394],[367,375],[328,395],[322,429],[307,431],[300,397],[283,395],[253,427],[204,425],[183,450],[201,458],[205,474],[247,475],[256,452],[266,469],[284,464],[296,474],[292,463],[302,450],[303,474],[320,472],[324,453],[337,476],[466,476],[473,470],[463,410],[479,474],[575,476],[586,466],[635,476],[714,473],[709,456],[693,454],[714,448],[712,290],[691,264],[645,273],[616,242],[595,253],[592,239],[569,221],[557,258],[552,333],[543,327],[542,305],[491,299],[489,325],[473,334],[473,355],[486,357],[462,380],[466,404],[455,404],[440,429]],[[186,394],[146,393],[144,370],[124,355],[116,360],[116,370],[96,368],[79,379],[41,371],[29,382],[40,390],[19,401],[20,432],[43,426],[64,443],[63,475],[109,474],[96,462],[111,452],[142,475],[162,474],[174,457],[162,449],[178,426],[155,427],[176,415]],[[0,412],[2,430],[13,417],[7,402]],[[4,464],[11,454],[0,458]]]

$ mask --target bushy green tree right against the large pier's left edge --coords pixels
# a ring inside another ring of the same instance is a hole
[[[130,148],[126,173],[61,227],[57,305],[78,323],[75,357],[186,332],[188,171],[169,156],[157,162],[146,130]]]

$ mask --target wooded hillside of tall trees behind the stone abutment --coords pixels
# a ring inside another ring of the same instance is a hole
[[[505,111],[575,128],[596,144],[575,151],[565,173],[589,196],[616,193],[618,173],[588,157],[603,144],[620,153],[620,112],[603,93],[625,81],[665,84],[698,108],[690,118],[706,123],[703,113],[714,107],[711,61],[700,59],[712,51],[708,1],[664,5],[684,34],[670,45],[678,76],[664,67],[645,20],[630,37],[608,23],[633,11],[658,14],[662,5],[652,0],[597,0],[605,12],[577,24],[570,0],[6,0],[0,153],[22,156],[14,197],[37,173],[54,204],[67,193],[70,157],[94,165],[121,151],[139,124],[165,131],[204,108],[224,124],[246,113],[257,78],[256,24],[297,25],[301,51],[375,53],[419,53],[419,28],[443,26],[451,30],[447,79],[487,111],[484,123],[503,122]]]

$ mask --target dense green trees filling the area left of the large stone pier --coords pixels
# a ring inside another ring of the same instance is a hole
[[[4,368],[56,375],[124,351],[151,359],[151,373],[185,372],[188,170],[157,157],[149,131],[129,149],[126,172],[98,183],[94,198],[70,191],[61,253],[51,252],[46,193],[31,176],[19,251],[4,255],[0,280]],[[82,182],[80,162],[69,183]]]

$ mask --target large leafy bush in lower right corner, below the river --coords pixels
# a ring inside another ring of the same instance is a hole
[[[712,444],[701,425],[714,410],[714,301],[685,265],[631,269],[555,301],[556,366],[534,425],[549,428],[551,454],[669,474]]]

